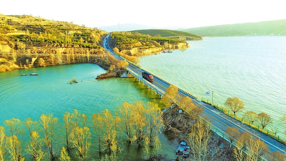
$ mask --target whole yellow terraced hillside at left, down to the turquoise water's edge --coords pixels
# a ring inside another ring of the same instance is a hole
[[[27,15],[0,14],[0,72],[90,62],[108,33]]]

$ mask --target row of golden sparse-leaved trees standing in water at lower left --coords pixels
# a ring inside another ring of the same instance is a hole
[[[163,127],[161,116],[157,104],[135,101],[123,102],[114,113],[106,109],[90,118],[77,110],[65,112],[62,123],[53,114],[42,114],[39,121],[12,118],[4,122],[6,129],[0,126],[0,161],[23,161],[24,151],[36,161],[55,157],[69,161],[69,154],[85,161],[90,157],[92,138],[97,139],[99,153],[108,153],[108,160],[119,159],[119,143],[125,142],[122,140],[143,146],[146,159],[157,157],[161,147],[158,133]],[[24,140],[25,137],[29,139]],[[60,148],[60,144],[64,147]],[[72,153],[68,154],[69,151]]]

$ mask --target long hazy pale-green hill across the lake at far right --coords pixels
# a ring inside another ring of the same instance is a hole
[[[181,30],[200,36],[286,36],[286,19],[243,24],[224,24]]]

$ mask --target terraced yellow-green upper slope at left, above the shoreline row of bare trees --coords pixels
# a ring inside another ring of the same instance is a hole
[[[0,52],[4,53],[18,50],[17,42],[24,43],[25,50],[42,47],[99,49],[101,40],[108,34],[102,30],[84,27],[84,25],[27,15],[0,14],[0,20]]]

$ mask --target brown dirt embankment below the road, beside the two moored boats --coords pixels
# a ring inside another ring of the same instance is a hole
[[[178,138],[178,140],[187,142],[187,137],[191,131],[191,127],[194,120],[189,117],[188,114],[179,114],[178,108],[170,108],[163,113],[164,125],[171,133]],[[178,145],[179,143],[178,142]],[[223,144],[223,150],[221,150],[221,145]],[[187,145],[189,145],[187,143]],[[234,156],[232,154],[232,148],[229,148],[230,143],[226,140],[218,137],[212,133],[209,142],[208,150],[206,154],[206,160],[212,161],[234,161]],[[175,152],[174,152],[175,153]],[[212,156],[212,153],[213,156]]]

